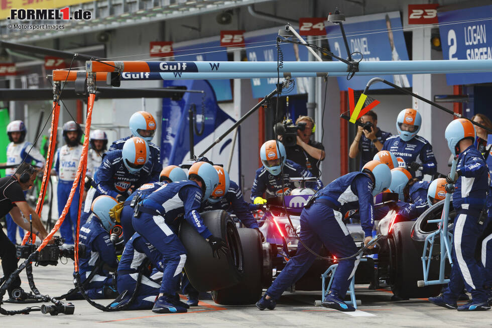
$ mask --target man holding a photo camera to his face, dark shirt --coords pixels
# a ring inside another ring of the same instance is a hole
[[[364,127],[357,127],[357,134],[350,145],[348,157],[355,158],[360,152],[360,169],[368,161],[372,161],[374,155],[383,149],[386,139],[391,136],[390,132],[378,128],[378,115],[373,111],[367,112],[360,118]]]

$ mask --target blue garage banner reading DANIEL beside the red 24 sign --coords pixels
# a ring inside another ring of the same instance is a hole
[[[408,60],[407,46],[402,31],[400,12],[382,13],[349,17],[343,24],[351,52],[359,52],[352,57],[355,60]],[[329,23],[326,27],[330,50],[340,58],[347,58],[347,51],[341,36],[340,26]],[[335,59],[336,60],[336,59]],[[329,73],[329,72],[328,72]],[[354,76],[350,80],[338,77],[340,90],[363,90],[367,82],[374,76]],[[402,87],[412,86],[410,75],[382,75],[387,81]],[[375,83],[371,89],[386,89],[391,86]]]

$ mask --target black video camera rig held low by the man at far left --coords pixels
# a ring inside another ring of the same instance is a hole
[[[53,244],[48,244],[39,252],[38,256],[34,259],[37,264],[42,266],[57,265],[58,259],[62,257],[70,258],[74,260],[75,248],[74,246],[62,247],[65,240],[61,237],[53,237]],[[26,244],[17,246],[17,257],[19,259],[27,259],[36,251],[38,247],[34,244]],[[85,245],[79,243],[79,256],[85,257]]]

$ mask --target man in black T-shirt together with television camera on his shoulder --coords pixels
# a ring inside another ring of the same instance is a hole
[[[285,146],[287,159],[301,165],[313,176],[319,177],[318,162],[325,158],[325,151],[320,142],[311,140],[315,129],[314,120],[309,116],[300,116],[295,125],[288,119],[275,126],[278,139]]]

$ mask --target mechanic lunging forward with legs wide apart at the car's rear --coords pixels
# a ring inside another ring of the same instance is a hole
[[[291,258],[265,295],[256,303],[260,310],[273,310],[276,300],[311,267],[321,246],[341,260],[334,274],[331,289],[323,306],[340,311],[355,311],[343,300],[350,280],[359,263],[355,243],[343,223],[342,213],[358,208],[360,223],[365,234],[364,245],[372,239],[373,196],[386,190],[391,183],[388,165],[380,161],[367,162],[361,172],[345,174],[320,189],[301,212],[301,232],[297,254]]]

